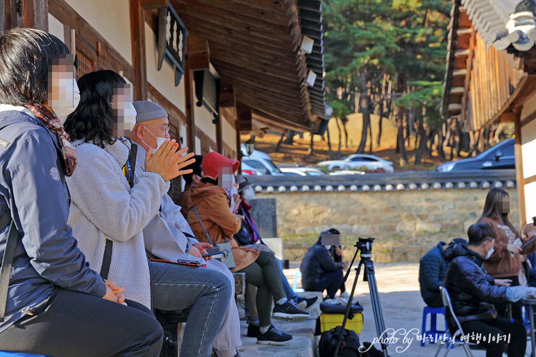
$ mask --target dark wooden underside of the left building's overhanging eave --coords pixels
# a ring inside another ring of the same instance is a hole
[[[251,107],[258,121],[278,130],[312,132],[317,119],[325,119],[319,1],[170,3],[187,31],[208,41],[210,62],[233,86],[236,101]],[[299,53],[303,35],[315,39],[310,55]],[[310,70],[317,73],[313,87],[304,85]]]

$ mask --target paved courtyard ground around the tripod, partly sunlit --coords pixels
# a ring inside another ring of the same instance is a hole
[[[291,269],[285,270],[285,275],[292,285],[294,272],[299,265],[291,264]],[[419,264],[418,263],[374,263],[376,270],[376,282],[378,285],[378,293],[380,295],[380,303],[383,310],[386,329],[405,329],[406,331],[420,331],[422,323],[422,311],[425,306],[419,293]],[[362,274],[362,273],[361,273]],[[355,279],[355,271],[349,277],[346,283],[346,290],[350,292],[351,285]],[[363,329],[360,333],[360,340],[371,342],[377,338],[376,327],[374,324],[374,315],[371,308],[371,300],[369,295],[369,286],[362,281],[362,275],[358,281],[355,290],[355,299],[365,307]],[[244,328],[245,328],[245,322]],[[301,324],[289,324],[276,322],[277,326],[284,331],[289,331],[295,336],[292,345],[287,347],[266,347],[256,345],[254,338],[242,339],[246,351],[241,352],[244,357],[252,356],[313,356],[310,354],[307,340],[312,336],[314,321],[302,322]],[[243,334],[245,336],[245,329]],[[417,338],[409,341],[403,341],[402,330],[396,337],[400,340],[397,343],[390,345],[387,348],[389,356],[408,356],[408,357],[431,357],[437,351],[437,345],[429,345],[421,347],[420,341]],[[530,345],[530,344],[529,344]],[[376,344],[376,347],[380,347]],[[527,351],[529,351],[528,347]],[[442,349],[441,356],[446,351]],[[485,351],[472,351],[474,357],[484,357]],[[449,357],[466,356],[462,347],[451,349]],[[530,355],[528,355],[530,356]]]

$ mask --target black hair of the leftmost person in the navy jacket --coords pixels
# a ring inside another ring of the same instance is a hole
[[[47,103],[49,57],[67,54],[67,46],[50,33],[10,28],[0,37],[0,103]]]

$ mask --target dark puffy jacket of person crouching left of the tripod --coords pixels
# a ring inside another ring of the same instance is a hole
[[[329,233],[329,232],[328,232]],[[301,261],[301,286],[305,290],[315,288],[321,275],[342,268],[344,263],[333,261],[330,251],[321,245],[321,238],[309,248]]]

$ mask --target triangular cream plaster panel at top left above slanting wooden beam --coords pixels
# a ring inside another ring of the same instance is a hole
[[[123,58],[132,64],[131,10],[128,0],[66,0]]]

